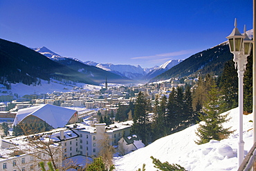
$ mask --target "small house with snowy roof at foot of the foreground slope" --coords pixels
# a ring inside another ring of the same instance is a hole
[[[122,137],[118,141],[118,151],[121,155],[128,154],[139,148],[144,148],[145,144],[136,134],[130,134],[128,136]]]

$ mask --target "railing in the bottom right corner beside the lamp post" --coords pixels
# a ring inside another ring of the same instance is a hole
[[[250,149],[246,158],[241,163],[237,171],[255,171],[256,170],[256,142],[253,144],[253,147]]]

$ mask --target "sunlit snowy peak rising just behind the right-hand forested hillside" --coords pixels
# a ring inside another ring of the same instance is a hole
[[[145,76],[146,79],[152,79],[156,76],[158,76],[159,74],[162,74],[163,72],[170,70],[172,67],[178,65],[179,63],[181,63],[183,60],[181,59],[172,59],[170,61],[167,61],[165,63],[163,63],[163,65],[155,68],[154,70],[151,70],[150,72],[147,73],[147,75]]]

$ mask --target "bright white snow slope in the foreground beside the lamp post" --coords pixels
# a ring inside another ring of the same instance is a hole
[[[237,148],[238,148],[238,108],[229,111],[231,118],[225,127],[232,126],[236,130],[228,139],[222,141],[210,141],[203,145],[196,145],[195,131],[198,125],[192,125],[181,132],[171,134],[154,141],[145,148],[140,148],[135,152],[116,157],[114,164],[116,170],[138,170],[146,164],[146,170],[156,170],[152,163],[151,156],[162,162],[177,163],[186,170],[205,171],[205,170],[237,170]],[[253,115],[244,115],[244,150],[245,154],[253,146]]]

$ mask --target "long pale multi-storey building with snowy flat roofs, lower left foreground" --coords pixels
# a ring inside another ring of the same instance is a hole
[[[118,141],[130,134],[132,121],[116,123],[106,126],[105,123],[95,125],[84,125],[75,123],[67,125],[66,128],[57,128],[48,132],[21,137],[12,137],[1,140],[0,149],[0,171],[7,170],[39,170],[39,161],[50,160],[44,149],[28,145],[28,137],[38,137],[41,141],[51,141],[52,150],[58,151],[54,159],[58,167],[62,166],[62,160],[84,155],[87,157],[98,157],[102,148],[102,141],[108,140],[109,145],[118,145]],[[32,151],[26,150],[31,148]],[[35,150],[36,149],[36,150]],[[26,152],[25,152],[26,151]],[[41,160],[40,160],[41,159]]]

